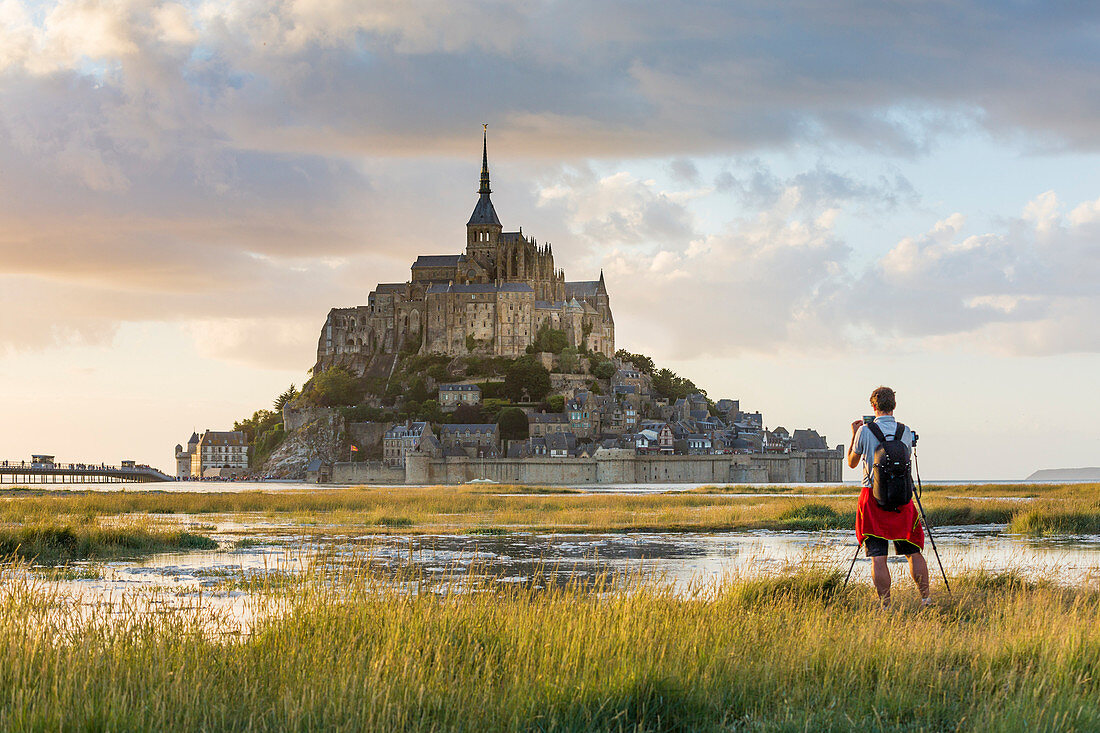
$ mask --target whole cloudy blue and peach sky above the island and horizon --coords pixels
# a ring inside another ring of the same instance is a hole
[[[1098,79],[1090,2],[0,0],[0,457],[300,385],[487,123],[618,347],[832,445],[893,386],[927,479],[1100,466]]]

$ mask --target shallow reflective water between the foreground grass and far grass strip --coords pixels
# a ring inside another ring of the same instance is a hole
[[[209,522],[209,518],[207,519]],[[263,534],[253,534],[255,530]],[[118,603],[128,597],[155,598],[151,611],[206,608],[228,613],[246,628],[255,614],[248,579],[274,579],[329,561],[370,559],[380,572],[422,572],[428,588],[461,584],[475,576],[492,582],[590,582],[642,573],[676,587],[725,575],[776,572],[796,564],[847,568],[855,550],[850,530],[733,533],[610,533],[501,535],[311,535],[292,523],[219,522],[218,550],[167,553],[143,560],[94,565],[100,578],[64,580],[61,586],[85,604]],[[1100,535],[1027,538],[1002,525],[944,527],[936,544],[948,572],[958,569],[1012,570],[1065,583],[1100,582]],[[235,546],[243,540],[244,546]],[[930,567],[938,569],[926,546]],[[890,558],[901,580],[904,558]],[[24,570],[25,572],[25,570]],[[33,572],[33,571],[32,571]],[[855,582],[870,581],[870,561],[856,561]]]

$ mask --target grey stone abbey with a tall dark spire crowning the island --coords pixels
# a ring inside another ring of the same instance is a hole
[[[482,140],[481,188],[462,254],[428,254],[405,283],[378,284],[367,305],[333,308],[321,330],[315,373],[341,364],[362,373],[382,354],[522,354],[549,327],[570,346],[612,357],[615,321],[604,275],[565,280],[553,249],[504,231],[490,198],[488,145]]]

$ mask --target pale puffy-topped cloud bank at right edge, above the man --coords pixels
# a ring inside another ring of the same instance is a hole
[[[1005,230],[968,234],[955,214],[904,238],[828,304],[878,339],[971,339],[1010,353],[1096,351],[1100,238],[1054,192],[1028,201]],[[1085,207],[1082,209],[1082,207]],[[856,315],[858,314],[858,315]]]

